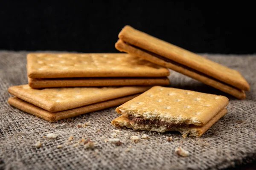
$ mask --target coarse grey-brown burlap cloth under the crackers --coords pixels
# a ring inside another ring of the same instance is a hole
[[[114,138],[111,120],[118,115],[109,108],[76,118],[49,123],[7,104],[12,85],[27,84],[26,51],[0,51],[0,169],[220,169],[252,161],[256,157],[256,55],[209,55],[205,57],[236,69],[247,79],[250,91],[244,100],[235,99],[201,82],[171,71],[170,86],[228,96],[227,115],[200,138],[183,139],[179,133],[158,134],[121,129],[117,133],[123,144],[116,146],[104,139]],[[90,126],[77,128],[90,121]],[[56,133],[57,139],[47,139]],[[125,134],[126,133],[126,134]],[[131,135],[148,134],[137,143]],[[89,138],[98,142],[94,149],[73,144]],[[168,142],[167,136],[174,141]],[[42,147],[37,149],[35,143]],[[57,148],[57,145],[62,145]],[[177,156],[175,147],[188,150],[189,157]]]

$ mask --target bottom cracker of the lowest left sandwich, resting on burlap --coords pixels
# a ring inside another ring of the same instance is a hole
[[[84,113],[89,113],[93,111],[99,111],[105,108],[110,108],[116,105],[121,105],[130,99],[133,99],[134,97],[138,96],[139,94],[134,94],[130,96],[120,97],[117,99],[111,99],[104,102],[94,103],[91,105],[82,106],[79,108],[70,109],[67,111],[59,111],[59,112],[49,112],[42,108],[39,108],[35,105],[32,105],[29,102],[25,102],[24,100],[21,100],[17,97],[10,97],[8,99],[9,105],[14,106],[15,108],[18,108],[24,112],[27,112],[29,114],[32,114],[34,116],[37,116],[41,119],[47,120],[49,122],[56,122],[61,119],[67,119],[70,117],[79,116]]]

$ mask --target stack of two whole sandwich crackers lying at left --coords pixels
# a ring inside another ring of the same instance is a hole
[[[129,54],[28,54],[27,73],[29,84],[10,87],[15,97],[8,103],[49,122],[121,105],[152,85],[169,84],[166,68]]]

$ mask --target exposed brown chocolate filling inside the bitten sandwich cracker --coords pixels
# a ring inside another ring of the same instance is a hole
[[[169,123],[169,122],[164,122],[160,120],[149,120],[149,119],[144,119],[142,117],[135,117],[133,115],[128,115],[128,119],[132,122],[135,122],[140,125],[157,125],[157,126],[166,126],[168,129],[172,129],[173,127],[179,128],[187,128],[189,127],[189,124],[186,123]]]

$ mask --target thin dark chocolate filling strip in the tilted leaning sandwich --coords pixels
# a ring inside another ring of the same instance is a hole
[[[233,86],[233,85],[227,84],[226,82],[222,82],[222,81],[220,81],[220,80],[218,80],[218,79],[215,79],[214,77],[211,77],[211,76],[209,76],[209,75],[207,75],[207,74],[204,74],[204,73],[202,73],[202,72],[200,72],[200,71],[197,71],[197,70],[195,70],[195,69],[193,69],[193,68],[190,68],[190,67],[188,67],[188,66],[186,66],[186,65],[182,65],[182,64],[180,64],[180,63],[178,63],[178,62],[175,62],[175,61],[173,61],[173,60],[171,60],[171,59],[168,59],[168,58],[166,58],[166,57],[163,57],[163,56],[160,56],[160,55],[158,55],[158,54],[152,53],[151,51],[147,51],[147,50],[145,50],[145,49],[143,49],[143,48],[140,48],[140,47],[137,47],[137,46],[135,46],[135,45],[129,44],[128,42],[125,42],[125,43],[126,43],[127,45],[131,45],[131,46],[134,47],[134,48],[140,49],[141,51],[144,51],[144,52],[146,52],[146,53],[148,53],[148,54],[151,54],[152,56],[157,57],[157,58],[159,58],[159,59],[161,59],[161,60],[163,60],[163,61],[165,61],[165,62],[170,62],[170,63],[172,63],[172,64],[174,64],[174,65],[177,65],[177,66],[179,66],[179,67],[182,67],[182,68],[184,68],[184,69],[186,69],[186,70],[193,71],[194,73],[197,73],[197,74],[200,74],[200,75],[202,75],[202,76],[204,76],[204,77],[207,77],[207,78],[209,78],[209,79],[213,79],[213,80],[215,80],[215,81],[221,82],[222,84],[228,85],[228,86],[230,86],[230,87],[232,87],[232,88],[236,88],[237,90],[241,91],[239,88],[237,88],[237,87],[235,87],[235,86]]]

